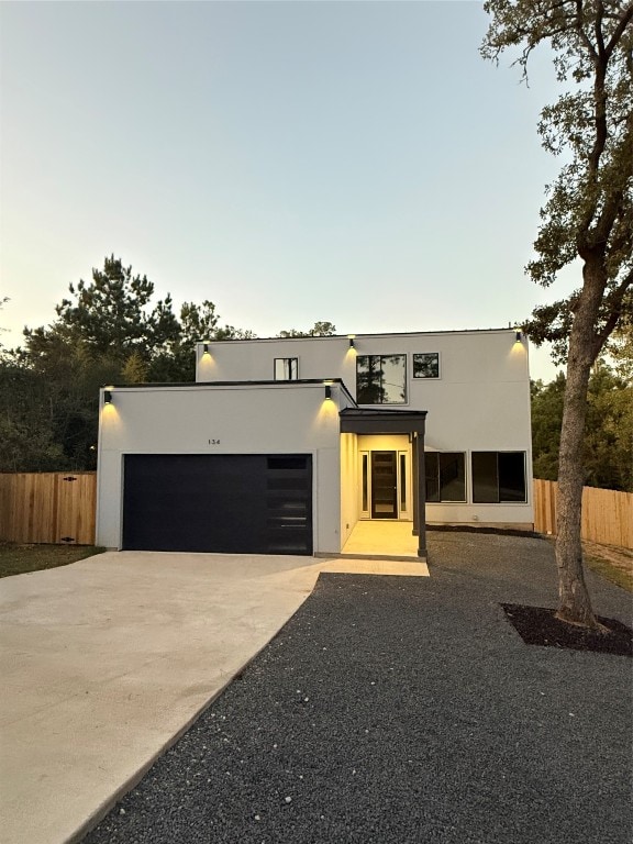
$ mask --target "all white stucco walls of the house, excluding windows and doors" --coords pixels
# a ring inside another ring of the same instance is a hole
[[[327,378],[342,378],[355,395],[358,354],[404,354],[408,400],[388,407],[425,410],[425,447],[465,454],[466,502],[429,503],[429,522],[533,522],[528,344],[514,331],[359,335],[354,348],[347,337],[231,341],[209,351],[197,347],[197,385],[114,388],[112,404],[102,408],[100,544],[120,547],[124,454],[302,453],[312,455],[314,551],[340,551],[360,517],[358,452],[400,449],[380,436],[341,436],[338,411],[351,402],[338,385],[324,401]],[[440,378],[412,378],[420,352],[440,354]],[[252,384],[273,380],[276,357],[299,358],[299,378],[321,382]],[[232,384],[218,384],[224,381]],[[524,452],[528,501],[473,503],[476,451]]]

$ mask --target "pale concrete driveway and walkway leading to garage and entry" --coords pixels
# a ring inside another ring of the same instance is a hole
[[[79,840],[323,570],[429,574],[415,562],[122,552],[2,579],[3,844]]]

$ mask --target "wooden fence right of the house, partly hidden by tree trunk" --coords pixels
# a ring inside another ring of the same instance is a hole
[[[556,481],[534,480],[535,531],[556,534],[557,495]],[[580,534],[601,545],[633,548],[633,492],[584,487]]]

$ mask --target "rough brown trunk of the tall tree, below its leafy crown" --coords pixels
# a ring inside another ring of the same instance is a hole
[[[556,565],[558,567],[557,618],[597,629],[598,624],[582,571],[580,517],[582,509],[582,440],[587,415],[587,390],[596,359],[595,325],[604,290],[604,274],[597,264],[585,264],[582,292],[574,311],[569,335],[567,385],[558,457],[558,519]]]

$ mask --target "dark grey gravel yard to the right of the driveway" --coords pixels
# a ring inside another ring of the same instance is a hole
[[[631,659],[506,620],[555,604],[549,542],[429,544],[430,578],[321,575],[85,844],[630,844]]]

